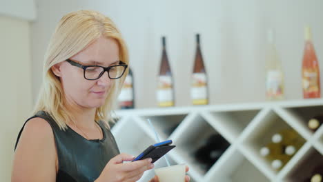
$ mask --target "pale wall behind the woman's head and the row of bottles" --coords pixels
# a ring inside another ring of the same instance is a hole
[[[32,24],[33,99],[41,84],[43,54],[57,22],[67,12],[94,9],[111,17],[124,34],[135,74],[136,103],[154,107],[160,37],[167,37],[175,76],[177,105],[190,105],[190,72],[195,33],[202,34],[202,52],[210,77],[211,104],[264,101],[266,30],[275,28],[277,49],[286,75],[286,99],[302,99],[304,25],[313,30],[323,67],[323,1],[49,1],[37,2]]]

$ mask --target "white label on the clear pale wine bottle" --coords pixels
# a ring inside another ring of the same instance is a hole
[[[266,96],[268,98],[282,97],[282,72],[279,70],[268,70],[266,77]]]

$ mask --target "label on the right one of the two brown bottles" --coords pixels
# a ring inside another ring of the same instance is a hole
[[[190,90],[190,97],[193,100],[193,104],[207,104],[208,93],[206,88],[206,74],[205,73],[193,73],[192,75],[192,88]]]

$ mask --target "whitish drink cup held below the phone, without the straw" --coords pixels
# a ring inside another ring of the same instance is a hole
[[[155,169],[159,182],[184,182],[186,174],[186,165],[170,165],[164,168]]]

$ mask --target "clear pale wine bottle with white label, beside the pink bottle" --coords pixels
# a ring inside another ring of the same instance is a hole
[[[284,98],[284,77],[282,63],[275,47],[275,34],[268,30],[268,48],[266,54],[266,99]]]

